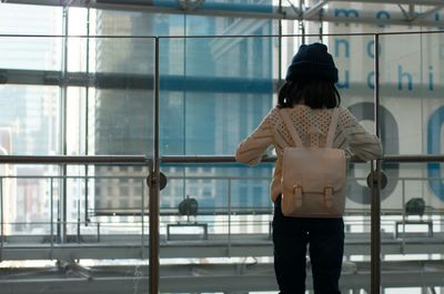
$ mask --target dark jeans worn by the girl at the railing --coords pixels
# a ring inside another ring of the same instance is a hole
[[[281,294],[305,293],[307,244],[315,294],[340,294],[339,280],[344,253],[342,219],[286,217],[281,196],[274,203],[274,272]]]

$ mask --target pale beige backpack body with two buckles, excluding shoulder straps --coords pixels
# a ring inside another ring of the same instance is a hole
[[[287,216],[342,216],[345,175],[343,150],[286,148],[282,166],[282,212]]]

